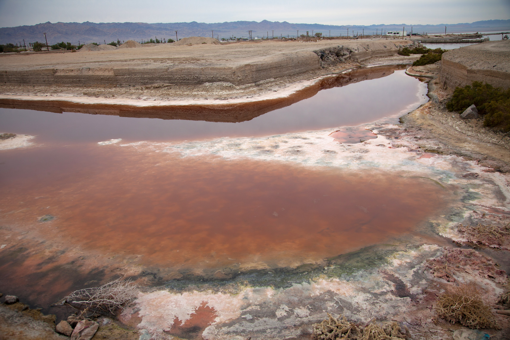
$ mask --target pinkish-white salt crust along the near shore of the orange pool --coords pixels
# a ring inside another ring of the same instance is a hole
[[[398,252],[393,255],[393,263],[384,266],[380,271],[397,273],[405,264],[416,261],[419,257],[434,256],[440,249],[442,248],[437,245],[423,245],[413,250]],[[416,282],[406,281],[414,292],[422,292]],[[212,291],[182,294],[167,291],[140,293],[135,301],[135,310],[138,310],[138,316],[142,319],[138,328],[147,329],[156,339],[165,338],[164,332],[171,329],[176,318],[184,324],[200,305],[213,308],[217,315],[214,322],[202,333],[204,338],[238,339],[243,332],[264,330],[265,338],[281,339],[295,335],[296,326],[321,321],[327,318],[327,312],[338,313],[338,308],[342,308],[340,311],[343,310],[344,315],[351,320],[368,322],[372,318],[394,316],[414,305],[409,298],[392,295],[393,289],[392,282],[380,273],[372,272],[350,281],[319,278],[293,284],[286,289],[246,287],[238,294]],[[312,303],[317,300],[321,301],[322,310],[318,310],[317,304]],[[343,309],[342,305],[351,308]],[[351,310],[352,307],[354,311]],[[246,313],[248,310],[249,317]],[[127,308],[121,318],[129,320],[133,313],[133,308]]]

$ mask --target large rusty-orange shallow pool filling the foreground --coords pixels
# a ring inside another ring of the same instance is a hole
[[[3,161],[4,223],[162,267],[294,265],[412,231],[443,204],[429,181],[381,172],[118,147],[11,151]],[[38,223],[44,215],[56,219]]]

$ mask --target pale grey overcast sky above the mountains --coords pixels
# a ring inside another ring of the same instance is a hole
[[[0,0],[0,27],[41,22],[440,24],[510,19],[510,0]]]

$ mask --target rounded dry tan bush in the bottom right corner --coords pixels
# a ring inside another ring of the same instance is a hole
[[[448,292],[438,296],[435,310],[438,317],[451,324],[460,322],[473,329],[500,329],[492,308],[483,302],[475,284],[451,287]]]

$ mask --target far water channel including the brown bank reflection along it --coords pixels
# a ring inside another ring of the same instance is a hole
[[[347,84],[349,86],[345,86]],[[331,76],[289,98],[214,108],[188,106],[141,111],[134,107],[114,110],[104,106],[77,105],[65,110],[91,114],[59,114],[8,109],[6,107],[27,109],[28,103],[6,103],[4,100],[0,120],[5,132],[37,135],[39,142],[98,142],[112,138],[178,141],[266,136],[358,125],[383,117],[392,117],[389,121],[397,122],[398,115],[428,100],[426,91],[426,84],[407,76],[402,66],[392,65]],[[64,110],[61,107],[48,107],[48,104],[55,102],[41,101],[37,104],[41,106],[31,103],[30,108],[57,112]]]

